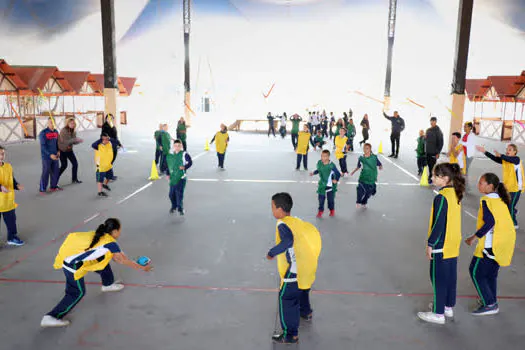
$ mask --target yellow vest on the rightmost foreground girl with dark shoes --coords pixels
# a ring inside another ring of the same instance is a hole
[[[494,257],[499,266],[509,266],[516,246],[516,229],[514,228],[514,222],[510,216],[509,208],[499,197],[482,197],[479,202],[478,230],[484,224],[482,208],[483,201],[487,203],[487,207],[494,216],[494,221],[496,222],[492,234],[492,252],[494,253]],[[476,250],[474,251],[474,256],[478,258],[483,257],[486,238],[485,235],[479,240]]]

